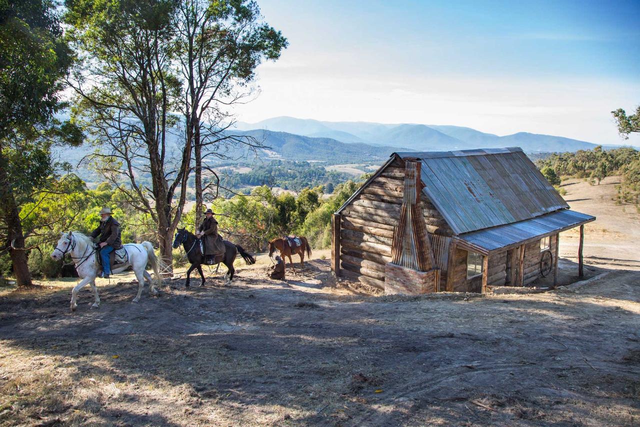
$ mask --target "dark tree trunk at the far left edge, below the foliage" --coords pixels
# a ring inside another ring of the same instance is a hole
[[[29,265],[27,264],[27,252],[24,251],[22,223],[20,222],[18,206],[15,203],[15,196],[8,182],[9,180],[4,164],[5,162],[0,149],[0,214],[4,217],[4,222],[7,227],[6,247],[11,247],[13,242],[13,247],[17,248],[9,249],[9,255],[13,264],[13,274],[15,275],[18,286],[28,286],[31,285],[31,272],[29,272]]]

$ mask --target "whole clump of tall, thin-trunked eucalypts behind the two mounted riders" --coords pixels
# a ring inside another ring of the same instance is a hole
[[[77,93],[73,117],[95,146],[86,161],[157,224],[161,256],[171,265],[189,175],[196,175],[201,206],[202,159],[223,156],[229,144],[252,144],[225,132],[230,115],[221,105],[239,101],[244,93],[236,89],[264,58],[278,58],[286,40],[260,22],[253,2],[66,4],[79,52],[69,81]]]

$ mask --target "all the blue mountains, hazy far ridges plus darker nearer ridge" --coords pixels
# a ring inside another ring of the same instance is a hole
[[[305,160],[335,164],[381,164],[394,151],[448,151],[469,148],[500,148],[519,146],[530,155],[541,151],[588,150],[596,144],[558,136],[520,132],[497,136],[459,126],[415,125],[404,123],[388,125],[366,122],[332,122],[276,117],[259,123],[237,123],[235,135],[254,137],[265,148],[255,153],[243,144],[221,146],[218,153],[227,159],[207,159],[210,166],[217,164],[251,164],[255,155],[262,160]],[[176,128],[168,137],[168,153],[179,155],[182,147],[180,130]],[[84,145],[56,150],[59,159],[76,165],[93,151]],[[88,182],[99,180],[86,166],[78,172]]]

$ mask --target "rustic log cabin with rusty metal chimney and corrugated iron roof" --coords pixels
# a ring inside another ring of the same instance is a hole
[[[385,293],[557,283],[569,209],[521,148],[393,153],[332,218],[332,272]]]

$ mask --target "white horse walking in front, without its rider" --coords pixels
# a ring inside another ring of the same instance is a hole
[[[157,295],[154,281],[151,275],[147,273],[147,270],[145,270],[147,263],[150,263],[154,269],[154,274],[156,274],[157,285],[162,285],[160,269],[163,268],[163,263],[157,259],[153,245],[150,242],[142,242],[141,244],[129,243],[124,245],[124,247],[127,250],[127,256],[129,256],[129,262],[124,263],[118,268],[114,268],[113,274],[123,272],[129,266],[133,268],[138,278],[138,295],[133,299],[133,302],[140,301],[145,279],[149,282],[150,293]],[[100,306],[100,297],[95,287],[95,278],[98,276],[101,267],[96,260],[96,252],[97,250],[90,237],[86,237],[79,231],[69,231],[68,233],[60,233],[58,245],[56,245],[56,249],[51,253],[51,258],[56,261],[64,258],[65,254],[70,254],[71,259],[76,264],[78,276],[82,279],[74,290],[71,291],[71,311],[74,311],[77,307],[76,299],[78,291],[88,283],[91,284],[93,294],[95,295],[95,302],[93,302],[92,307],[97,308]]]

